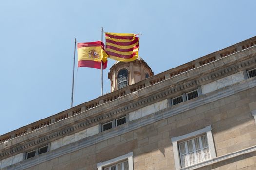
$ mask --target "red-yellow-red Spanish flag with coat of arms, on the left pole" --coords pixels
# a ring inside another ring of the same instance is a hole
[[[78,67],[105,69],[107,57],[102,41],[78,43]]]

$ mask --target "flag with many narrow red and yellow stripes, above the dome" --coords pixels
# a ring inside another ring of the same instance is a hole
[[[118,61],[134,61],[138,58],[138,34],[130,33],[105,33],[105,51],[109,58]]]

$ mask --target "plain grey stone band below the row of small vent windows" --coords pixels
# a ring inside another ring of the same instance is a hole
[[[182,104],[168,107],[167,109],[163,109],[154,114],[142,117],[141,119],[136,119],[134,121],[131,121],[125,124],[124,126],[119,126],[109,131],[102,132],[100,134],[96,134],[94,136],[81,139],[77,142],[65,145],[63,147],[57,148],[55,150],[36,156],[34,158],[23,160],[22,162],[19,162],[17,164],[7,167],[7,169],[8,170],[26,169],[26,168],[38,165],[42,162],[49,161],[53,158],[58,157],[59,155],[64,155],[64,154],[72,153],[74,151],[78,151],[79,149],[94,145],[98,142],[102,142],[104,140],[110,139],[115,136],[125,134],[129,131],[136,130],[148,124],[154,123],[156,121],[169,118],[171,116],[183,113],[187,110],[197,108],[198,106],[201,106],[210,102],[214,102],[222,98],[228,97],[230,95],[233,95],[235,93],[247,90],[249,88],[255,88],[255,87],[256,87],[256,77],[247,79],[242,82],[236,83],[234,85],[229,85],[227,88],[218,89],[213,93],[202,95],[191,101],[186,101]],[[209,125],[207,123],[209,122],[206,122],[205,125]],[[247,151],[247,149],[243,151]],[[240,151],[237,151],[235,153],[240,153]],[[233,153],[230,153],[229,155],[233,155]],[[221,157],[220,159],[224,157]]]

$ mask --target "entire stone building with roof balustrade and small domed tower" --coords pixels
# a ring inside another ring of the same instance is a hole
[[[111,93],[1,135],[0,170],[256,170],[256,37],[109,78]]]

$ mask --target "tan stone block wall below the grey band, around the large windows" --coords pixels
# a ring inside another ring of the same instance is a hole
[[[175,170],[171,138],[208,125],[212,126],[217,157],[239,152],[256,145],[256,125],[251,114],[251,109],[254,107],[252,103],[255,102],[256,87],[78,151],[60,155],[27,170],[97,170],[97,163],[131,151],[134,153],[134,170]],[[151,118],[152,115],[143,117],[143,119]],[[136,121],[139,123],[140,119]],[[109,131],[113,131],[113,129]],[[69,147],[69,145],[65,147]],[[50,151],[47,154],[51,154],[51,152],[55,151]],[[256,152],[252,152],[203,166],[199,170],[227,170],[228,168],[230,170],[244,170],[244,168],[253,170],[255,166]]]

